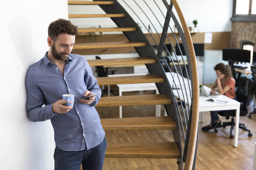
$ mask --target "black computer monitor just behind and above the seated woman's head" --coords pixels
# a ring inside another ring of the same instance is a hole
[[[228,61],[233,60],[234,62],[251,62],[251,51],[244,49],[234,48],[222,48],[222,60]]]

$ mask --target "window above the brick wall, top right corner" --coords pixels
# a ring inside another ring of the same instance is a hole
[[[256,0],[233,0],[231,21],[255,21]]]

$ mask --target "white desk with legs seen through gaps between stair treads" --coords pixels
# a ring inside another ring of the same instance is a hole
[[[129,75],[145,75],[145,74],[109,74],[109,77],[123,77]],[[108,85],[109,86],[109,85]],[[156,94],[159,94],[155,83],[135,83],[135,84],[117,84],[119,88],[119,96],[122,96],[123,92],[127,91],[139,91],[139,94],[142,95],[144,90],[156,90]],[[108,87],[108,96],[110,95],[110,88]],[[122,118],[123,108],[119,106],[119,117]],[[161,105],[156,105],[156,116],[161,115]]]

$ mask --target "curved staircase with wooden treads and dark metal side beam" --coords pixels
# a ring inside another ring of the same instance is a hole
[[[122,67],[145,64],[150,72],[149,75],[97,78],[99,85],[156,83],[158,91],[160,92],[159,95],[101,97],[96,108],[108,106],[165,105],[168,115],[163,117],[102,118],[101,124],[103,129],[105,131],[171,130],[174,133],[174,141],[108,143],[106,157],[174,158],[179,162],[179,169],[183,169],[182,145],[179,139],[180,137],[175,137],[177,134],[181,135],[179,123],[177,122],[177,111],[175,109],[177,108],[177,105],[175,104],[174,96],[170,85],[167,82],[163,67],[138,25],[133,20],[130,21],[131,18],[129,14],[120,7],[121,5],[119,5],[117,1],[68,1],[68,5],[99,5],[106,12],[106,14],[69,14],[69,19],[111,18],[118,25],[116,28],[78,28],[78,36],[84,36],[84,32],[122,31],[127,39],[130,40],[122,42],[78,43],[74,45],[74,53],[79,52],[76,51],[79,49],[134,47],[140,57],[88,60],[88,62],[91,66],[119,65]],[[109,10],[110,8],[114,10]],[[107,13],[108,11],[110,12]],[[120,11],[124,13],[121,13]]]

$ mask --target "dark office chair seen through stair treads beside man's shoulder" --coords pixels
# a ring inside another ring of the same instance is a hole
[[[101,52],[102,52],[102,51],[101,51]],[[100,52],[100,53],[101,53],[101,52]],[[99,53],[99,54],[100,54],[100,53]],[[95,58],[96,58],[97,60],[101,60],[101,58],[99,57],[99,54],[98,54],[98,56],[95,56]],[[115,71],[116,71],[116,70],[108,71],[108,67],[107,67],[107,68],[104,68],[102,65],[101,65],[101,66],[96,66],[96,72],[98,73],[98,77],[108,77],[108,74],[115,74]],[[107,92],[108,92],[108,87],[102,89],[101,96],[103,96],[103,95],[106,94]],[[115,96],[118,96],[118,95],[119,95],[117,90],[110,89],[110,92],[111,92],[111,94],[114,94]]]

